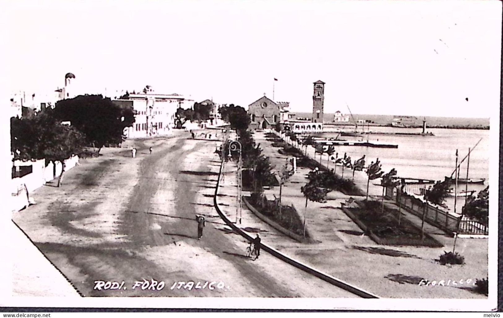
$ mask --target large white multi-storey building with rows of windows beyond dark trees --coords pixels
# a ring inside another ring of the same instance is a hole
[[[135,122],[124,131],[127,138],[171,134],[177,109],[190,108],[194,104],[194,100],[179,94],[155,94],[153,91],[129,94],[129,99],[114,99],[112,102],[123,107],[133,107]]]

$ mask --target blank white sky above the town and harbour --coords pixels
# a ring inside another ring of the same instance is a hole
[[[499,109],[499,1],[6,1],[4,82],[141,90],[247,106],[264,93],[325,113],[489,117]],[[273,81],[277,78],[278,81]],[[468,98],[468,101],[466,100]]]

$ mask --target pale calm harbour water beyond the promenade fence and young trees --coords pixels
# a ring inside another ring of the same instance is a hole
[[[393,128],[386,126],[371,126],[371,132],[383,133],[421,133],[419,128]],[[427,129],[435,136],[407,136],[407,135],[363,135],[362,137],[339,137],[345,140],[368,140],[386,142],[398,145],[394,148],[370,148],[355,146],[336,146],[339,156],[346,152],[352,160],[366,156],[366,164],[379,160],[382,169],[388,172],[395,168],[397,175],[407,178],[422,178],[432,180],[444,180],[450,176],[455,167],[456,149],[459,160],[468,154],[468,148],[472,148],[480,139],[480,143],[470,153],[469,178],[485,178],[481,184],[468,184],[468,190],[479,192],[488,185],[489,181],[489,130],[464,130],[464,129]],[[323,133],[317,136],[326,139],[335,138],[337,133]],[[466,178],[467,160],[461,164],[460,177]],[[458,192],[465,190],[465,184],[458,185]],[[476,193],[475,193],[476,195]],[[457,212],[464,205],[464,198],[457,198]],[[454,198],[447,199],[447,205],[454,210]]]

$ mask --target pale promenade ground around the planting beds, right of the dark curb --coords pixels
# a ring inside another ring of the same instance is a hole
[[[258,144],[261,144],[263,153],[270,158],[271,164],[279,170],[285,164],[287,156],[279,154],[279,148],[272,147],[272,141],[267,140],[265,134],[265,132],[256,132],[254,138]],[[308,153],[312,152],[311,147]],[[319,155],[317,159],[319,160]],[[273,243],[276,248],[381,297],[484,297],[467,289],[458,288],[460,286],[420,287],[415,282],[420,281],[421,278],[430,281],[459,280],[461,277],[474,281],[477,278],[485,278],[487,276],[486,239],[458,238],[456,251],[465,256],[467,263],[463,266],[441,266],[435,262],[444,250],[452,250],[454,239],[429,224],[425,225],[426,231],[442,242],[445,245],[444,248],[376,244],[340,209],[341,202],[346,201],[350,196],[332,191],[328,194],[326,203],[309,202],[307,209],[304,208],[305,197],[300,187],[306,184],[308,172],[307,168],[298,168],[297,173],[283,186],[282,201],[284,204],[293,204],[301,217],[305,214],[307,227],[318,243],[301,244],[276,240]],[[360,174],[366,175],[365,172],[360,172]],[[362,180],[363,176],[359,175],[358,178]],[[366,179],[364,183],[366,186]],[[374,198],[380,198],[381,193],[382,188],[377,186],[374,186],[371,192]],[[266,190],[266,195],[270,200],[274,198],[273,195],[279,197],[279,187]],[[387,201],[386,204],[392,203]],[[414,215],[403,211],[402,217],[421,226],[421,219]]]

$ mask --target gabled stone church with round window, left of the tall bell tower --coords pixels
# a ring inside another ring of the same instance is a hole
[[[248,105],[250,125],[255,129],[271,129],[280,121],[288,118],[288,102],[275,103],[263,96]]]

